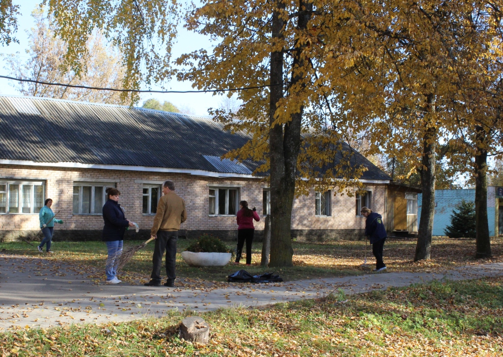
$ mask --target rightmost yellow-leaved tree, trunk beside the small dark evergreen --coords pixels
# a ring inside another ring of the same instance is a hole
[[[482,2],[465,16],[470,31],[455,45],[459,80],[452,100],[456,113],[452,142],[472,160],[475,180],[476,258],[491,256],[487,218],[487,157],[501,151],[503,132],[503,32],[501,2]]]

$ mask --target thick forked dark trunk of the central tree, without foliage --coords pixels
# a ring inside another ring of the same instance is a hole
[[[278,3],[278,8],[281,11],[284,4]],[[307,28],[312,4],[301,0],[299,9],[305,10],[303,15],[299,15],[297,22],[297,29],[302,31]],[[280,19],[279,13],[274,13],[272,19],[273,38],[282,38],[283,26],[284,21]],[[295,86],[303,78],[303,74],[296,71],[296,69],[304,67],[305,60],[301,56],[304,46],[305,44],[299,42],[295,44],[290,87]],[[283,83],[283,52],[273,52],[271,54],[271,83]],[[301,88],[303,87],[304,84],[301,83]],[[274,113],[282,96],[282,86],[271,87],[269,109],[269,156],[271,162],[271,256],[269,266],[271,267],[293,265],[292,208],[297,178],[297,159],[300,152],[302,114],[304,111],[302,105],[299,112],[291,115],[290,121],[284,127],[281,124],[274,124]]]

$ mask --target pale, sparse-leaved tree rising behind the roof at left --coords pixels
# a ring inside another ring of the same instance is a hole
[[[105,45],[104,37],[95,31],[86,41],[88,51],[80,61],[85,70],[79,74],[65,64],[66,44],[55,36],[51,18],[44,16],[43,9],[32,13],[35,27],[28,33],[29,48],[27,61],[13,55],[6,58],[11,75],[34,81],[85,85],[91,87],[120,88],[124,79],[124,68],[120,57],[111,46]],[[80,100],[108,104],[121,104],[119,92],[44,85],[19,82],[17,88],[23,95]]]

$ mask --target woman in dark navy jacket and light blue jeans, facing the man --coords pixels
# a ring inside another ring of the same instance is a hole
[[[124,216],[124,211],[119,204],[120,191],[116,188],[107,188],[107,202],[103,206],[103,227],[102,240],[107,244],[108,259],[105,267],[107,274],[107,284],[119,284],[121,281],[117,279],[117,266],[115,258],[122,252],[122,241],[124,240],[124,232],[126,227],[134,227]]]

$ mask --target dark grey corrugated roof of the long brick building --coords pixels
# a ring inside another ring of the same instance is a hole
[[[0,95],[0,159],[251,174],[220,156],[244,145],[210,118],[128,106]],[[389,176],[362,155],[363,179]]]

